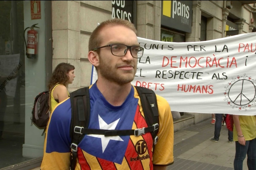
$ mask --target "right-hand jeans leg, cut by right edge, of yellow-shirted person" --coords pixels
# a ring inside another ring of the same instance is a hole
[[[249,140],[249,147],[247,151],[247,166],[249,170],[256,169],[256,138]]]

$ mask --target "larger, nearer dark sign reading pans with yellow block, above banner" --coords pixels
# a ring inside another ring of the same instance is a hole
[[[191,33],[192,1],[162,1],[161,25]]]

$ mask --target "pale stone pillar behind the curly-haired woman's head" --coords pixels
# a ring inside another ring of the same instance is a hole
[[[80,2],[52,1],[53,70],[61,63],[75,66],[69,92],[80,87]]]

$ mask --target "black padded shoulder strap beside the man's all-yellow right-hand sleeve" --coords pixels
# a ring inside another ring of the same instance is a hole
[[[148,126],[152,126],[154,124],[158,124],[159,127],[159,114],[158,114],[158,106],[157,106],[157,97],[153,90],[150,90],[148,88],[135,86],[139,96],[140,96],[140,102],[143,109],[143,113],[145,116],[145,120],[148,124]],[[151,132],[154,145],[157,143],[159,128],[157,128],[155,131]],[[153,150],[154,150],[153,145]]]

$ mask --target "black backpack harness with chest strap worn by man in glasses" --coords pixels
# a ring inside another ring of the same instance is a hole
[[[150,132],[154,141],[154,146],[158,140],[159,129],[159,114],[157,106],[156,94],[153,90],[148,88],[135,86],[138,91],[143,113],[148,127],[140,129],[129,130],[105,130],[105,129],[88,129],[90,119],[90,96],[89,87],[78,89],[70,93],[71,101],[71,124],[70,124],[70,137],[71,137],[71,151],[70,169],[74,170],[76,165],[78,144],[86,134],[99,134],[105,136],[121,136],[121,135],[135,135],[139,136]]]

